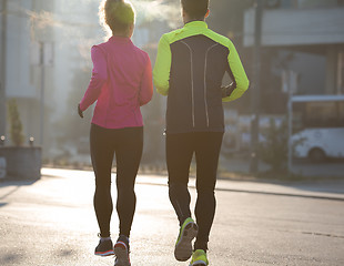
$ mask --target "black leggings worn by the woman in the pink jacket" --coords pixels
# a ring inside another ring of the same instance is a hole
[[[91,125],[90,146],[95,175],[94,211],[102,237],[110,236],[113,211],[111,198],[111,168],[117,161],[117,212],[120,234],[129,237],[135,212],[134,183],[143,146],[143,127],[104,129]]]

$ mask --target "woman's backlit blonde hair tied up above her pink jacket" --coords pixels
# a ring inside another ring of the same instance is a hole
[[[102,0],[99,17],[100,23],[112,34],[127,32],[135,22],[134,8],[127,0]]]

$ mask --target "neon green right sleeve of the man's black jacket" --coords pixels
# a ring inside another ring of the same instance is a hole
[[[235,89],[230,96],[223,98],[222,102],[231,102],[241,98],[250,85],[244,66],[242,65],[237,51],[231,41],[229,43],[229,50],[230,50],[227,57],[229,68],[230,71],[232,72],[233,75],[232,78],[234,79]]]

